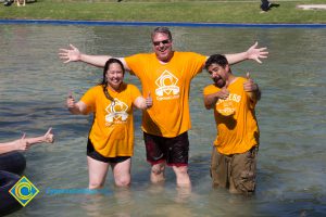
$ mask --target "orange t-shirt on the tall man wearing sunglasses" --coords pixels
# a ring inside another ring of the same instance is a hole
[[[168,63],[155,53],[125,58],[131,74],[142,86],[142,94],[151,92],[153,106],[142,113],[142,130],[161,137],[176,137],[191,128],[189,88],[191,79],[202,71],[206,56],[192,52],[174,52]]]

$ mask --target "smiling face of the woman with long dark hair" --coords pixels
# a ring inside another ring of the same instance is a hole
[[[108,86],[113,90],[118,90],[121,84],[124,80],[124,72],[118,63],[110,64],[106,74]]]

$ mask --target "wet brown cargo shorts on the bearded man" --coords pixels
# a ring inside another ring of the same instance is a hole
[[[214,187],[233,193],[253,193],[255,189],[258,146],[241,154],[224,155],[213,148],[211,176]]]

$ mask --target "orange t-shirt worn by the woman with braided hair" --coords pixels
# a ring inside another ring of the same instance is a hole
[[[82,98],[88,113],[93,113],[89,139],[95,150],[105,157],[133,156],[133,103],[140,97],[134,85],[123,84],[117,92],[109,89],[114,103],[108,100],[102,86],[89,89]]]

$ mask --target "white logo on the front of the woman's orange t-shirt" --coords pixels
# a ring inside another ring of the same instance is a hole
[[[108,115],[105,115],[105,120],[109,124],[122,124],[128,118],[128,105],[118,99],[114,99],[113,102],[105,108]]]

